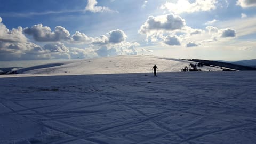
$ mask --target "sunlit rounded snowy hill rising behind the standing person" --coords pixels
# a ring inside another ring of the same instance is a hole
[[[150,73],[154,64],[158,72],[177,72],[188,66],[190,61],[179,59],[167,59],[161,57],[135,55],[103,57],[86,60],[66,61],[63,63],[51,63],[49,65],[35,66],[20,69],[19,74],[116,74],[116,73]],[[221,71],[220,68],[201,68],[202,71]]]

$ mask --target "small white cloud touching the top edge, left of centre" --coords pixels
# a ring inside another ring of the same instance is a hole
[[[97,5],[97,1],[96,0],[88,0],[88,3],[85,7],[86,11],[90,11],[93,13],[97,13],[97,12],[115,12],[114,10],[109,9],[108,7],[105,6],[96,6]]]

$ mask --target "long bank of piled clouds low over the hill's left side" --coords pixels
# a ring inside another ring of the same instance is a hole
[[[70,35],[62,26],[51,30],[42,24],[9,30],[2,23],[2,18],[0,20],[0,61],[135,55],[135,47],[140,45],[137,42],[126,42],[127,35],[120,29],[93,38],[79,31]],[[30,42],[26,35],[31,36],[35,43]],[[80,45],[80,48],[66,45]]]

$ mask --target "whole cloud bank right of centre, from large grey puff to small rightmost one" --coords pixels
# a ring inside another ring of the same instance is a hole
[[[145,40],[149,44],[175,47],[204,46],[206,43],[227,41],[228,38],[237,37],[237,32],[234,29],[218,29],[211,26],[217,21],[214,19],[204,23],[210,25],[205,29],[194,29],[187,26],[185,19],[176,14],[150,16],[141,25],[138,33],[146,35]]]

